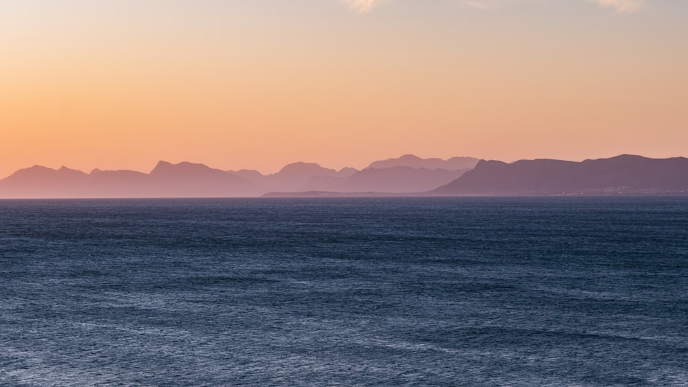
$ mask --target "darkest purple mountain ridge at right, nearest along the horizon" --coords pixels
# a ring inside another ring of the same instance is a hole
[[[566,162],[480,160],[436,195],[555,195],[688,193],[688,159],[621,155]]]

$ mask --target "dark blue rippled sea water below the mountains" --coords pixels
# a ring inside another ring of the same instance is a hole
[[[0,201],[0,384],[688,384],[688,198]]]

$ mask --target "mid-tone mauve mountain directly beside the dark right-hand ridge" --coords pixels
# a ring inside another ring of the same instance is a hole
[[[411,168],[366,168],[350,177],[313,178],[305,185],[307,191],[412,193],[431,190],[457,179],[463,170]]]

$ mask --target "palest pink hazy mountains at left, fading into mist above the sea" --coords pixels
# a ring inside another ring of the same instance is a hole
[[[0,197],[255,197],[272,190],[303,190],[314,178],[345,179],[354,168],[334,170],[314,163],[293,163],[278,173],[237,172],[204,164],[158,162],[151,173],[133,170],[54,170],[33,166],[0,180]]]

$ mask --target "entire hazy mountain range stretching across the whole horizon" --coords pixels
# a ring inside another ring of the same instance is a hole
[[[278,173],[158,162],[150,173],[32,166],[0,180],[0,198],[656,195],[688,193],[688,159],[620,155],[513,163],[403,155],[363,170],[297,162]]]

